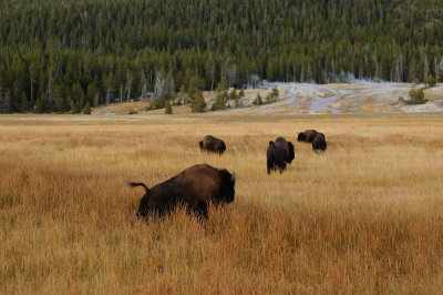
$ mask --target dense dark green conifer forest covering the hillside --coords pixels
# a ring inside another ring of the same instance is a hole
[[[343,73],[442,81],[443,1],[0,0],[2,113]]]

